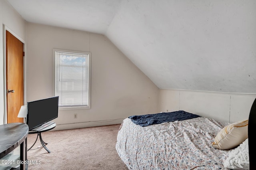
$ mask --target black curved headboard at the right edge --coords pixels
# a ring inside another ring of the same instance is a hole
[[[252,104],[252,108],[248,121],[248,145],[249,145],[249,161],[250,170],[256,170],[256,99]]]

